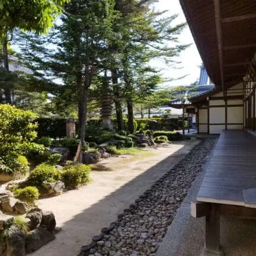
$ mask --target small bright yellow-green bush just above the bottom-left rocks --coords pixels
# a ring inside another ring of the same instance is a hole
[[[14,191],[14,196],[21,201],[33,205],[39,199],[39,190],[36,187],[18,188]]]

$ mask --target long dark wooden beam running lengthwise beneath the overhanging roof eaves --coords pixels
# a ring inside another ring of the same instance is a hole
[[[219,50],[220,78],[222,82],[222,91],[224,95],[225,80],[224,80],[224,69],[223,69],[222,24],[220,23],[220,20],[221,20],[220,1],[214,0],[214,4],[215,4],[215,24],[216,24],[216,31],[217,31],[217,44],[218,44],[218,50]]]

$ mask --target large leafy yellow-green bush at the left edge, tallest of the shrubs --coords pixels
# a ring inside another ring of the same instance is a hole
[[[33,124],[36,114],[20,110],[9,104],[0,104],[0,156],[12,172],[26,169],[20,155],[31,148],[31,142],[37,136],[37,124]]]

